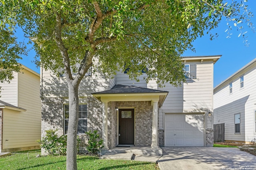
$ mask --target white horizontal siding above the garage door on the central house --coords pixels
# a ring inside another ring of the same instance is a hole
[[[188,63],[186,63],[188,64]],[[205,112],[212,109],[212,63],[196,65],[196,79],[188,80],[181,87],[166,84],[159,90],[169,92],[161,109],[165,113]]]

